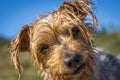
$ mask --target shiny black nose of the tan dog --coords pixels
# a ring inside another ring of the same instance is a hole
[[[64,63],[68,68],[73,68],[79,65],[81,58],[82,57],[79,54],[73,54],[69,57],[66,57],[64,59]]]

